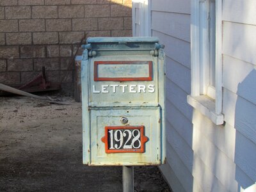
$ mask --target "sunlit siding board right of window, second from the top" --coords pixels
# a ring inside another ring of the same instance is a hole
[[[256,65],[256,26],[223,22],[223,54]]]

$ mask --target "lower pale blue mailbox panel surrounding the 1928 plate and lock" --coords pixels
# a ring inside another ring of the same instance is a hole
[[[143,126],[148,141],[145,152],[106,153],[102,141],[106,126],[124,126],[120,119],[128,119],[129,126]],[[161,120],[159,108],[92,108],[91,109],[91,165],[151,165],[161,163]]]

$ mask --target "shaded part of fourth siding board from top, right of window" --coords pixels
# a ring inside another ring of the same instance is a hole
[[[256,145],[256,106],[242,97],[237,97],[235,128]]]

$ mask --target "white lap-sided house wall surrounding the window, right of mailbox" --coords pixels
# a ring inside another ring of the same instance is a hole
[[[152,36],[166,53],[167,163],[173,191],[256,191],[255,1],[223,0],[223,115],[188,105],[190,1],[152,1]]]

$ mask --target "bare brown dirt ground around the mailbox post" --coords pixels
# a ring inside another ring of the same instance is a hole
[[[82,164],[81,112],[81,106],[0,97],[0,191],[122,191],[122,166]],[[134,166],[134,186],[171,191],[157,166]]]

